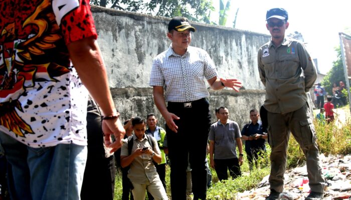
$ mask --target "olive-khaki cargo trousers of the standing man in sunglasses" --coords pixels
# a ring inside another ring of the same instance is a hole
[[[306,156],[311,191],[323,192],[324,178],[319,166],[319,151],[311,116],[307,103],[301,108],[285,114],[268,111],[268,142],[272,148],[270,189],[277,192],[283,191],[286,150],[291,131]]]

